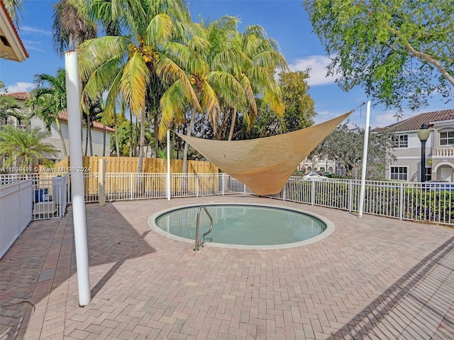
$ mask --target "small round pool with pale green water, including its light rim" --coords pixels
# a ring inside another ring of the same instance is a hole
[[[205,245],[243,249],[280,249],[317,242],[334,230],[328,219],[312,212],[258,204],[204,204],[213,217],[213,230]],[[148,225],[159,234],[194,244],[197,210],[184,205],[150,216]],[[210,220],[201,210],[199,238]]]

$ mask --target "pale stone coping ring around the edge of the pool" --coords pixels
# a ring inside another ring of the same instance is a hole
[[[223,244],[223,243],[214,243],[214,242],[205,242],[204,246],[216,246],[218,248],[229,248],[229,249],[287,249],[287,248],[295,248],[298,246],[305,246],[306,244],[312,244],[315,242],[319,242],[322,239],[325,239],[329,235],[331,235],[334,232],[335,226],[334,223],[331,222],[331,220],[328,220],[328,218],[323,217],[319,214],[316,214],[315,212],[310,212],[307,210],[303,209],[297,209],[297,208],[288,208],[284,207],[282,205],[267,205],[267,204],[260,204],[260,203],[238,203],[238,202],[231,202],[231,203],[204,203],[203,205],[250,205],[250,206],[256,206],[256,207],[265,207],[265,208],[279,208],[282,210],[290,210],[294,212],[299,212],[303,213],[305,215],[309,215],[311,217],[316,218],[317,220],[320,220],[326,225],[326,229],[321,232],[320,234],[311,237],[310,239],[305,239],[304,241],[298,241],[298,242],[292,242],[292,243],[287,243],[287,244],[272,244],[272,245],[248,245],[248,244]],[[158,227],[155,223],[155,220],[157,217],[160,217],[161,215],[164,215],[167,212],[171,212],[173,210],[179,210],[179,209],[184,209],[184,208],[194,208],[198,207],[200,205],[194,205],[194,204],[187,204],[187,205],[178,205],[172,208],[165,208],[162,209],[158,212],[155,212],[153,215],[150,215],[148,217],[148,227],[152,229],[154,232],[157,234],[160,234],[164,237],[173,239],[175,241],[179,242],[185,242],[185,243],[192,243],[195,244],[195,239],[187,239],[184,237],[179,237],[174,234],[170,234],[168,232],[165,232],[162,230],[160,227]],[[195,250],[195,249],[194,249]]]

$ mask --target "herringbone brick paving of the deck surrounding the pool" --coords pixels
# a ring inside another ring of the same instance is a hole
[[[333,221],[291,249],[156,234],[172,206],[269,203]],[[72,210],[0,261],[0,339],[454,339],[454,229],[248,196],[86,205],[92,302],[79,307]]]

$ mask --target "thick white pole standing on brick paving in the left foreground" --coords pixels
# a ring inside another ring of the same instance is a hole
[[[74,244],[76,249],[77,285],[79,305],[86,306],[92,300],[90,293],[87,225],[84,200],[84,174],[82,172],[82,130],[79,96],[79,72],[77,51],[65,52],[68,131],[70,137],[70,170],[72,220],[74,222]]]

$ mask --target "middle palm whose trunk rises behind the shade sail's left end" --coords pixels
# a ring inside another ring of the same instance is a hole
[[[204,23],[199,26],[198,34],[193,35],[187,42],[191,55],[188,58],[189,62],[185,65],[185,71],[190,74],[191,84],[194,92],[199,100],[201,109],[209,116],[216,133],[218,115],[221,111],[220,100],[229,103],[230,105],[239,105],[245,103],[244,92],[241,84],[230,72],[226,72],[222,64],[236,60],[238,55],[234,53],[226,53],[226,41],[233,36],[237,30],[238,18],[232,16],[223,16],[209,24],[204,28]],[[222,53],[222,56],[219,55]],[[216,61],[216,62],[215,62]],[[184,111],[188,107],[184,96],[175,96],[181,93],[181,84],[176,82],[170,86],[169,91],[161,98],[162,107],[170,107],[170,110],[165,112],[170,115],[162,115],[160,137],[165,135],[167,126],[173,119],[178,121],[183,120]],[[179,101],[175,101],[180,98]],[[196,109],[192,109],[187,135],[192,134],[194,127],[194,118]],[[184,143],[183,152],[183,172],[187,172],[187,153],[189,145]]]

